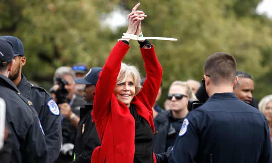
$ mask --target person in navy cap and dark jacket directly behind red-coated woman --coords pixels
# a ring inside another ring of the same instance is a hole
[[[75,83],[85,84],[84,100],[87,104],[85,107],[80,108],[80,120],[75,137],[74,159],[72,163],[90,163],[94,149],[101,145],[91,115],[94,101],[93,92],[101,70],[101,67],[93,67],[85,78],[75,79]]]

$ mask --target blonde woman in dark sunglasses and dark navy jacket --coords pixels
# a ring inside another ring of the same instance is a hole
[[[188,113],[188,100],[197,99],[188,83],[174,81],[167,95],[170,110],[162,112],[154,119],[155,134],[153,150],[156,154],[166,152],[174,145],[182,122]]]

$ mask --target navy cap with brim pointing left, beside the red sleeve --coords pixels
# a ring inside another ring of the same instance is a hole
[[[77,78],[75,82],[78,84],[96,85],[101,67],[93,67],[86,74],[85,78]]]

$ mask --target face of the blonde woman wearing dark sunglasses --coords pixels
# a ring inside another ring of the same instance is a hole
[[[169,94],[186,94],[186,87],[181,85],[173,85],[169,89]],[[188,95],[187,95],[188,96]],[[187,109],[188,105],[188,97],[183,96],[182,99],[176,99],[175,96],[169,102],[170,109],[173,111],[180,111],[183,109]]]

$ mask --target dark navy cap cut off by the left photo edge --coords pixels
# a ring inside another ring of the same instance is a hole
[[[0,37],[0,66],[8,65],[13,59],[12,43]]]

